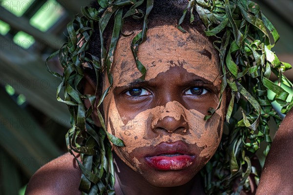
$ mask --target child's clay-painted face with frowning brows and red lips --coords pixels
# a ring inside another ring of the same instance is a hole
[[[124,140],[126,147],[114,151],[150,184],[183,185],[209,161],[222,136],[225,97],[204,121],[209,107],[220,103],[217,54],[195,30],[148,29],[138,52],[146,79],[138,82],[130,50],[134,36],[121,37],[115,51],[113,88],[103,104],[107,131]]]

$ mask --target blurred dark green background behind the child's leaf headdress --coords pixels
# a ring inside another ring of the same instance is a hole
[[[22,195],[29,178],[66,152],[67,107],[45,59],[66,40],[66,25],[91,0],[0,0],[0,194]],[[281,36],[273,48],[293,64],[293,0],[257,0]],[[62,73],[58,59],[50,67]],[[293,80],[293,71],[286,76]],[[272,78],[274,80],[276,78]]]

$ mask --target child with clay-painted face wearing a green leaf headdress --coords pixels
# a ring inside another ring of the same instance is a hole
[[[265,26],[277,35],[256,4],[207,2],[98,0],[68,24],[58,99],[73,156],[42,167],[28,194],[255,193],[251,153],[280,119],[267,88],[288,105],[267,78],[289,65],[270,51]]]

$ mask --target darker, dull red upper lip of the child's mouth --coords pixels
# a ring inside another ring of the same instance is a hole
[[[182,154],[194,156],[192,152],[188,150],[188,145],[183,141],[176,142],[161,142],[159,145],[154,147],[153,152],[147,154],[146,157],[159,156],[163,154]]]

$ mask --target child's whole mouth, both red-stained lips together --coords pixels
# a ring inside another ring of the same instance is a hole
[[[157,170],[182,170],[195,162],[195,155],[188,151],[188,146],[182,141],[162,142],[145,159],[149,166]]]

